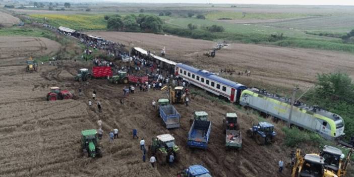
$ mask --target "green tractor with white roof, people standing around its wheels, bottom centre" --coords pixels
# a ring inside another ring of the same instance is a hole
[[[174,144],[174,137],[170,134],[158,135],[152,138],[149,152],[156,157],[156,161],[163,165],[168,163],[169,155],[173,154],[174,160],[178,160],[180,148]]]

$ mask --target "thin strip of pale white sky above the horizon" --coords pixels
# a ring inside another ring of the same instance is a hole
[[[343,5],[354,6],[354,0],[110,0],[122,3],[213,3],[272,5]]]

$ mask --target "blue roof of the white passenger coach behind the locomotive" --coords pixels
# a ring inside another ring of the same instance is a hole
[[[229,86],[229,87],[232,87],[232,88],[235,88],[235,89],[247,89],[246,86],[242,85],[242,84],[239,84],[237,82],[233,82],[233,81],[230,81],[228,79],[224,79],[222,77],[219,77],[219,76],[216,76],[214,73],[211,73],[211,72],[208,72],[208,71],[205,71],[205,70],[199,70],[197,68],[194,68],[194,67],[191,67],[189,65],[185,65],[185,64],[176,64],[177,67],[180,67],[180,68],[183,68],[183,69],[186,69],[186,70],[189,70],[193,73],[196,73],[202,77],[205,77],[205,78],[209,78],[211,80],[214,80],[216,82],[219,82],[223,85],[226,85],[226,86]]]

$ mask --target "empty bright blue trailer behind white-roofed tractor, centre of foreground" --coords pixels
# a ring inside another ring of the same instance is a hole
[[[208,147],[210,131],[210,121],[194,120],[188,133],[187,145],[189,147],[206,149]]]

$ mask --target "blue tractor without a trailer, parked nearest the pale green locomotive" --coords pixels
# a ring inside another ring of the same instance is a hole
[[[257,144],[270,144],[275,137],[274,126],[267,122],[259,122],[247,130],[247,136],[256,140]]]

